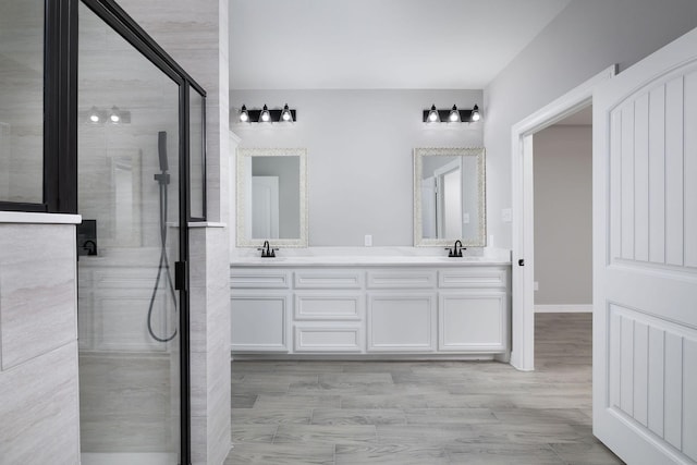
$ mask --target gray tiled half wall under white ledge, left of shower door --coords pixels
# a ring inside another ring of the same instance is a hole
[[[0,463],[80,460],[75,227],[0,223]]]

